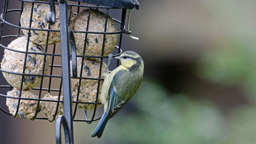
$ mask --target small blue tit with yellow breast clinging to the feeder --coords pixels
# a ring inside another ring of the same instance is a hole
[[[119,59],[121,65],[103,77],[104,82],[99,99],[104,105],[104,113],[91,137],[102,136],[108,120],[132,98],[142,82],[144,62],[140,55],[133,51],[126,51],[114,58]]]

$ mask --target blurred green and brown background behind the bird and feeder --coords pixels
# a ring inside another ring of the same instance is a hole
[[[141,88],[101,139],[90,137],[98,121],[74,122],[75,143],[256,143],[256,1],[139,3],[131,31],[140,40],[125,35],[122,49],[145,62]],[[55,122],[0,117],[3,143],[55,143]]]

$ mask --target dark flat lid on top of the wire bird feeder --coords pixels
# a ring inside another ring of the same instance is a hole
[[[71,0],[82,3],[105,5],[116,8],[139,9],[140,4],[137,0]]]

